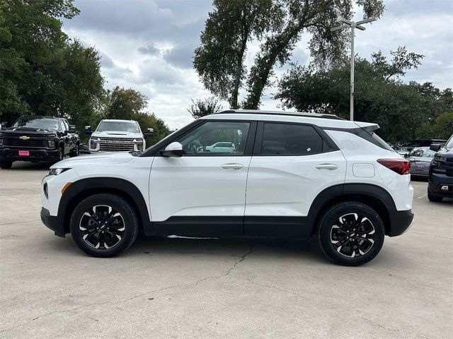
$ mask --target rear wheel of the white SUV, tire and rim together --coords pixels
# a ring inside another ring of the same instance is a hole
[[[348,201],[324,213],[318,235],[321,249],[331,261],[343,266],[360,266],[377,256],[384,244],[385,231],[375,210]]]

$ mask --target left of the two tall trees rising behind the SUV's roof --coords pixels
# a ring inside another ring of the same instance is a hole
[[[214,0],[213,7],[193,65],[205,87],[237,109],[239,88],[246,75],[247,43],[275,29],[281,11],[272,0]]]

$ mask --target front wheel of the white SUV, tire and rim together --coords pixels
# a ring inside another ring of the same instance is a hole
[[[134,208],[114,194],[95,194],[81,201],[71,215],[69,227],[79,249],[101,258],[128,249],[139,232]]]

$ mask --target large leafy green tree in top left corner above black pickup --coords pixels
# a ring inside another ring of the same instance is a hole
[[[67,42],[59,18],[78,13],[73,0],[0,0],[1,119],[35,112],[55,80],[47,65]]]

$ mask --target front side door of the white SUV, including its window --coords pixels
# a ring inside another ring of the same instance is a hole
[[[168,143],[183,156],[154,157],[149,178],[151,219],[159,234],[243,234],[246,180],[256,123],[206,120]],[[217,142],[234,152],[207,148]]]

